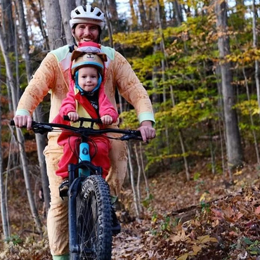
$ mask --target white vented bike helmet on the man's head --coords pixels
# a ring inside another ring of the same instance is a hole
[[[70,27],[78,23],[90,23],[98,25],[101,30],[105,27],[105,15],[98,7],[92,7],[90,4],[86,6],[77,6],[70,14]]]

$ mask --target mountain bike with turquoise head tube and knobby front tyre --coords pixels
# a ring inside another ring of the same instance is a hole
[[[69,120],[68,117],[65,119]],[[95,123],[102,124],[100,119],[79,117],[78,122],[79,127],[33,121],[32,131],[35,134],[66,131],[80,136],[79,163],[68,166],[70,259],[111,259],[112,209],[110,189],[102,177],[102,168],[91,164],[88,140],[91,136],[106,133],[122,134],[119,138],[107,136],[121,141],[142,140],[141,133],[136,130],[93,129]],[[84,127],[84,122],[91,122],[91,126]],[[13,120],[11,120],[11,125],[15,125]]]

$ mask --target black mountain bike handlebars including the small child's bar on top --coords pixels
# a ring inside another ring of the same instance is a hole
[[[65,120],[70,121],[69,117],[65,116]],[[124,129],[93,129],[93,124],[102,124],[102,121],[100,118],[98,119],[92,119],[92,118],[84,118],[79,117],[78,122],[80,122],[79,127],[70,126],[67,124],[56,124],[56,123],[45,123],[45,122],[35,122],[32,121],[32,131],[34,131],[35,134],[45,134],[51,131],[71,131],[75,134],[82,134],[86,136],[90,135],[98,135],[98,134],[105,134],[105,133],[117,133],[117,134],[123,134],[119,139],[121,141],[128,141],[130,139],[135,139],[139,141],[143,141],[141,137],[141,132],[138,130],[124,130]],[[91,127],[84,127],[82,126],[83,122],[91,122]],[[15,122],[11,120],[10,122],[11,126],[15,126]],[[26,128],[27,126],[22,126],[22,128]],[[111,137],[110,137],[111,138]]]

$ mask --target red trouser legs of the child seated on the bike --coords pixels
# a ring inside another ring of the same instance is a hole
[[[68,136],[67,134],[60,134],[58,138],[58,145],[63,146],[63,157],[58,163],[59,169],[56,171],[58,176],[68,178],[67,167],[69,164],[77,164],[79,161],[79,136]],[[95,166],[100,166],[103,169],[102,176],[106,178],[110,169],[110,141],[105,136],[91,136],[89,142],[89,154],[91,162]]]

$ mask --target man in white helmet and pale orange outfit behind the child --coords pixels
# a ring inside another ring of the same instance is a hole
[[[51,93],[49,121],[51,122],[58,115],[62,100],[66,97],[69,89],[72,51],[82,41],[100,43],[100,33],[105,27],[105,15],[97,7],[77,6],[71,13],[70,26],[76,42],[75,46],[66,45],[47,54],[20,98],[14,117],[15,126],[27,125],[27,129],[30,129],[32,112],[48,93]],[[152,127],[155,119],[148,93],[127,60],[120,53],[105,46],[101,46],[101,51],[108,57],[108,61],[105,63],[107,71],[105,93],[110,102],[117,108],[115,101],[115,88],[117,87],[119,93],[136,109],[143,141],[155,138],[155,129]],[[117,127],[118,123],[117,120],[114,127]],[[62,200],[59,196],[58,187],[62,179],[60,176],[56,176],[63,148],[57,144],[57,139],[58,133],[49,133],[48,145],[44,150],[51,190],[51,207],[48,212],[47,228],[53,259],[67,260],[69,257],[67,200]],[[111,147],[111,168],[106,180],[110,185],[111,194],[118,195],[126,176],[126,145],[122,141],[113,140]]]

